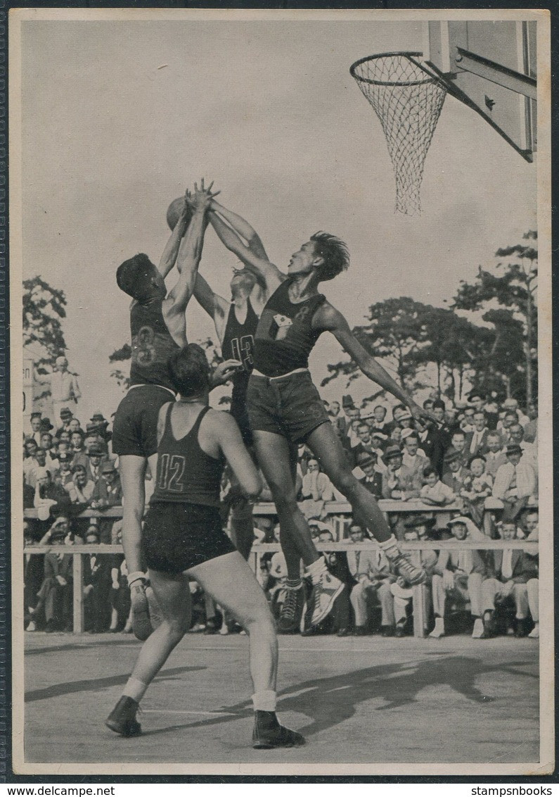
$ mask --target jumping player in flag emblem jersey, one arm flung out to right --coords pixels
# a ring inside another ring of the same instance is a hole
[[[354,517],[373,534],[397,571],[409,583],[422,583],[424,571],[402,556],[377,501],[351,473],[308,371],[308,355],[316,340],[322,332],[331,332],[369,379],[407,404],[414,417],[431,417],[369,355],[342,313],[318,291],[320,282],[333,279],[349,265],[346,245],[333,235],[317,233],[293,254],[285,274],[268,258],[256,257],[213,210],[209,218],[225,246],[264,279],[270,294],[256,331],[248,414],[260,468],[280,518],[289,587],[285,611],[293,614],[294,630],[302,601],[300,559],[314,587],[308,614],[311,626],[331,610],[342,584],[326,570],[297,505],[288,442],[307,444],[334,487],[350,502]]]

